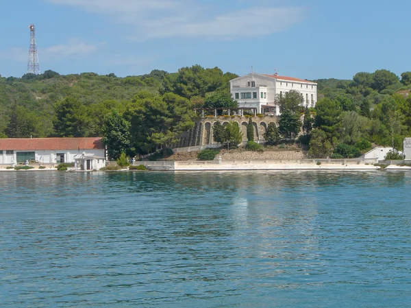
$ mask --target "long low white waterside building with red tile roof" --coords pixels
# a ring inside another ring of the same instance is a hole
[[[101,137],[0,139],[0,164],[12,165],[25,161],[41,164],[75,163],[77,154],[83,152],[105,163],[105,146]]]

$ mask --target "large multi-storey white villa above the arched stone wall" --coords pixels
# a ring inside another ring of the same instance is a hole
[[[290,90],[299,91],[305,107],[314,107],[317,102],[316,82],[293,77],[249,73],[230,80],[230,92],[240,108],[257,108],[258,113],[279,115],[275,95]]]

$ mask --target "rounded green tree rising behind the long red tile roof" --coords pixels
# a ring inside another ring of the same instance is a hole
[[[90,118],[86,106],[75,97],[66,97],[55,105],[53,126],[58,137],[87,137]]]

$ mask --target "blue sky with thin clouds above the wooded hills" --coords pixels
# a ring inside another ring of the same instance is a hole
[[[1,2],[3,77],[27,71],[30,23],[41,71],[61,74],[141,75],[193,64],[310,80],[411,71],[408,0]]]

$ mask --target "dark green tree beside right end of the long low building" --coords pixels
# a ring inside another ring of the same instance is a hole
[[[113,110],[104,118],[103,142],[108,148],[108,157],[117,159],[121,153],[126,152],[130,145],[130,123],[127,122],[117,110]]]

